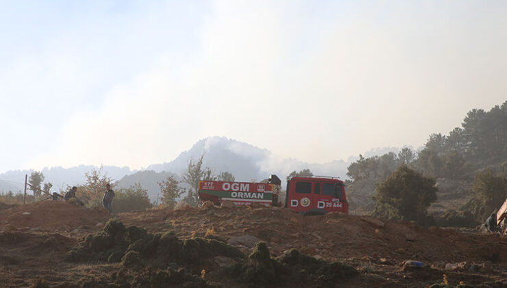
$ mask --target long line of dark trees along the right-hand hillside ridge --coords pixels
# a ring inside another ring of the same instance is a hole
[[[354,181],[384,179],[401,164],[426,176],[452,179],[471,180],[474,171],[483,167],[507,172],[507,101],[489,112],[470,110],[461,126],[448,135],[430,134],[417,157],[409,148],[402,149],[397,157],[360,155],[349,165],[347,176]]]

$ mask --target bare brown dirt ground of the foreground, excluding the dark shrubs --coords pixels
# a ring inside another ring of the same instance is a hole
[[[284,208],[153,208],[109,215],[102,208],[61,201],[0,211],[0,287],[29,287],[38,279],[49,287],[91,287],[90,279],[102,279],[97,287],[108,287],[120,263],[71,263],[65,254],[89,233],[102,230],[111,217],[148,232],[173,231],[181,239],[228,241],[247,254],[257,241],[264,241],[271,256],[295,248],[360,272],[332,287],[429,287],[434,283],[507,287],[507,238],[501,235],[421,228],[339,213],[304,217]],[[403,266],[407,260],[425,267]],[[218,274],[206,277],[221,287],[248,287]]]

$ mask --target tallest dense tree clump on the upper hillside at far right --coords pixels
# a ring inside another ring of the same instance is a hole
[[[500,168],[506,159],[507,101],[489,112],[470,110],[462,128],[449,135],[431,134],[417,168],[431,176],[462,178],[482,167]]]

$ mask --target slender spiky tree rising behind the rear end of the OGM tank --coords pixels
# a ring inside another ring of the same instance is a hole
[[[197,161],[190,159],[183,174],[183,182],[190,186],[184,201],[190,204],[190,206],[197,206],[199,204],[199,193],[197,192],[199,190],[199,181],[215,180],[213,171],[208,167],[203,167],[203,157],[204,154]]]

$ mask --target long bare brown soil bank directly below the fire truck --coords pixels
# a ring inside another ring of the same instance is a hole
[[[266,243],[275,255],[295,248],[337,261],[369,255],[400,263],[417,259],[496,261],[507,263],[507,239],[493,234],[454,229],[423,228],[410,222],[381,221],[367,216],[328,213],[305,217],[285,208],[153,209],[120,215],[125,224],[149,231],[174,230],[178,237],[214,236],[228,240],[251,235]],[[253,247],[243,247],[250,252]]]

